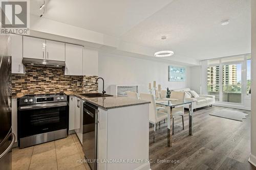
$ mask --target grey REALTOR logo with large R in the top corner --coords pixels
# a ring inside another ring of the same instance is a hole
[[[1,0],[1,34],[29,34],[29,0]]]

